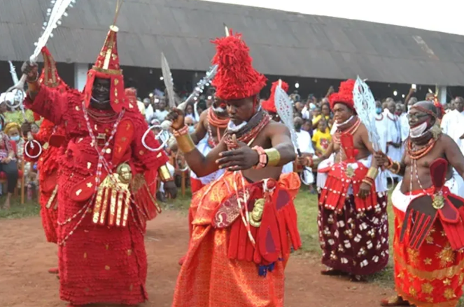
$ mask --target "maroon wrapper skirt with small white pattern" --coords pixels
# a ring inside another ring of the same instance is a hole
[[[345,200],[341,213],[319,206],[319,241],[322,263],[353,275],[369,275],[388,264],[388,204],[386,193],[377,193],[377,205],[356,211],[354,196]]]

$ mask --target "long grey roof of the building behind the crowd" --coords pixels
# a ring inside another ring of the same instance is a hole
[[[48,47],[57,61],[93,63],[116,0],[77,0]],[[0,60],[34,50],[50,0],[0,1]],[[123,66],[206,70],[223,23],[244,34],[261,73],[464,85],[464,36],[198,0],[125,0],[118,18]]]

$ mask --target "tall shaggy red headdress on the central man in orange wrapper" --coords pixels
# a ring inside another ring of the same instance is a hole
[[[266,77],[253,68],[250,49],[241,39],[241,34],[216,38],[216,55],[213,64],[218,65],[218,73],[213,79],[216,96],[222,100],[238,100],[255,96],[266,85]]]

